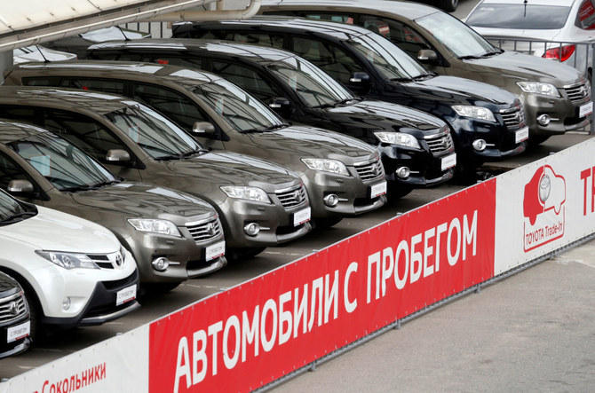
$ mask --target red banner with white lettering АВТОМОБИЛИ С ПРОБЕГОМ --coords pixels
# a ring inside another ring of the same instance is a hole
[[[496,180],[150,325],[149,391],[249,391],[493,276]]]

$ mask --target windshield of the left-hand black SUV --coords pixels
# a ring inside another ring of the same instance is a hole
[[[288,58],[267,68],[297,92],[308,106],[327,106],[355,99],[341,84],[304,59]]]

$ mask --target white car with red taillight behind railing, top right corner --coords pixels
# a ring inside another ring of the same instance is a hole
[[[595,0],[482,0],[464,22],[497,47],[556,59],[591,76]]]

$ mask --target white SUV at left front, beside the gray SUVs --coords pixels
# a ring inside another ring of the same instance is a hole
[[[103,226],[0,192],[0,245],[0,271],[25,292],[34,340],[139,307],[136,262]]]

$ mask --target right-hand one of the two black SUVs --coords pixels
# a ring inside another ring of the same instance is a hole
[[[519,98],[487,83],[433,74],[366,28],[260,17],[183,22],[175,24],[172,32],[180,38],[223,39],[295,51],[356,94],[434,114],[453,130],[462,172],[526,149],[528,127]]]

